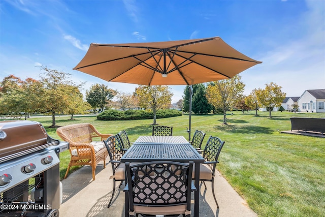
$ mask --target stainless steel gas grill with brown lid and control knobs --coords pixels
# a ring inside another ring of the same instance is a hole
[[[59,153],[36,121],[0,122],[0,216],[59,216]]]

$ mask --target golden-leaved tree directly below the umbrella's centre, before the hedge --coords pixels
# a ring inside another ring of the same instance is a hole
[[[139,85],[136,88],[139,106],[153,111],[153,125],[156,125],[156,112],[159,109],[168,108],[173,93],[168,86]]]

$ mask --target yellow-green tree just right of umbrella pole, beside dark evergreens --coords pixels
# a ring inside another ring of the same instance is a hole
[[[223,124],[226,125],[226,111],[234,106],[244,91],[245,84],[241,76],[236,75],[231,79],[210,82],[207,87],[208,102],[215,108],[223,110]]]

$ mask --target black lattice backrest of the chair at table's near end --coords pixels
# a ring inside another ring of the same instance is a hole
[[[139,206],[187,204],[190,210],[193,162],[125,163],[130,210]]]

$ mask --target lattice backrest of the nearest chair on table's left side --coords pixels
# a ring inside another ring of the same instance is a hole
[[[124,154],[122,144],[118,136],[110,136],[107,140],[104,140],[104,144],[107,148],[108,155],[111,161],[119,162]],[[118,167],[119,163],[112,163],[114,166],[113,171]]]

